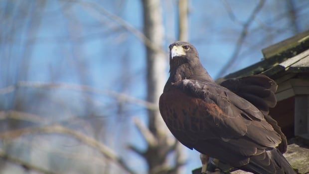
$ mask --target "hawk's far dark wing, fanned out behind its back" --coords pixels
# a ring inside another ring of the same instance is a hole
[[[277,103],[275,92],[278,85],[276,82],[265,75],[258,74],[228,79],[223,81],[220,85],[257,107],[264,114],[266,121],[280,134],[282,143],[279,145],[278,149],[282,153],[287,152],[287,138],[278,126],[277,121],[269,115],[269,108],[275,107]]]

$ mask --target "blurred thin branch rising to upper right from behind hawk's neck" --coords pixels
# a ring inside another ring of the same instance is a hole
[[[264,5],[265,0],[260,0],[259,3],[257,4],[257,6],[254,8],[254,10],[252,11],[251,15],[249,16],[249,18],[247,19],[247,21],[244,23],[243,25],[243,29],[240,33],[240,36],[237,40],[236,43],[236,47],[234,49],[234,52],[232,54],[232,56],[229,58],[229,60],[226,62],[225,65],[223,65],[223,67],[221,68],[221,70],[218,72],[218,74],[216,75],[216,78],[221,77],[222,75],[224,75],[227,70],[234,64],[234,62],[236,61],[238,54],[241,50],[241,47],[243,45],[243,42],[248,34],[248,29],[249,26],[251,25],[251,23],[253,22],[253,20],[255,19],[256,15],[258,14],[258,12],[262,9],[263,5]]]

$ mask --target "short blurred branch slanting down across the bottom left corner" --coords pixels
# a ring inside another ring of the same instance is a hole
[[[5,161],[8,161],[10,163],[13,163],[13,164],[16,164],[16,165],[19,165],[21,166],[22,168],[24,168],[25,170],[31,170],[31,171],[36,171],[36,172],[39,172],[39,173],[42,173],[42,174],[58,174],[58,173],[54,173],[54,172],[51,172],[51,171],[48,171],[48,170],[45,170],[45,169],[42,169],[40,167],[37,167],[35,165],[32,165],[30,163],[27,163],[27,162],[24,162],[20,159],[17,159],[17,158],[13,158],[11,156],[9,156],[8,154],[6,154],[4,151],[0,150],[0,158],[5,160]]]

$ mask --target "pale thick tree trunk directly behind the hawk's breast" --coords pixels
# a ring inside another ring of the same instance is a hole
[[[156,46],[163,46],[163,21],[160,0],[143,0],[144,33]],[[166,60],[163,51],[147,47],[147,100],[158,106],[166,81]],[[164,174],[166,171],[166,157],[172,145],[168,143],[169,131],[160,116],[158,108],[149,109],[149,131],[153,134],[155,144],[148,145],[144,155],[148,163],[150,174]]]

